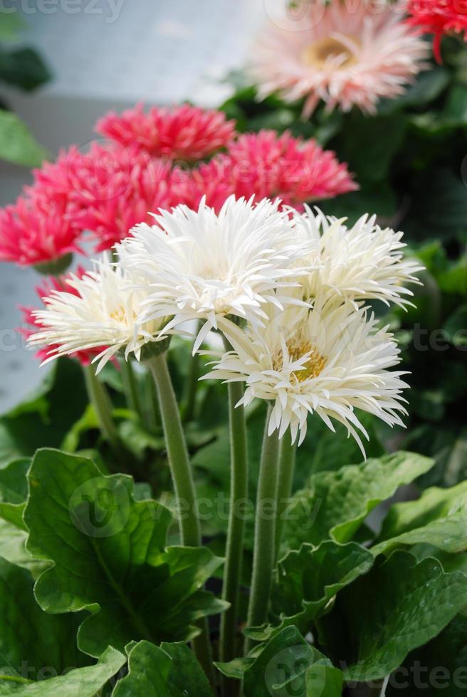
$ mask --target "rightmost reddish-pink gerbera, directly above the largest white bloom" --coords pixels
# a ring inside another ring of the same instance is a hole
[[[208,164],[187,176],[184,202],[196,208],[202,196],[219,210],[232,193],[255,201],[280,198],[284,205],[303,208],[306,201],[332,198],[355,191],[347,164],[335,153],[323,150],[314,140],[293,138],[285,132],[263,130],[245,134]]]

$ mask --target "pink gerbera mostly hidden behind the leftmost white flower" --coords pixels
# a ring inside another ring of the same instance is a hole
[[[52,292],[65,292],[71,293],[73,295],[78,295],[78,291],[72,285],[68,284],[68,279],[72,277],[83,278],[85,274],[85,269],[83,267],[78,267],[78,269],[75,270],[73,275],[67,274],[62,276],[50,277],[45,282],[43,282],[43,284],[36,287],[36,293],[38,294],[38,297],[41,299],[44,306],[46,306],[47,304],[45,302],[45,299],[50,297]],[[29,337],[33,334],[36,334],[38,331],[41,331],[44,325],[35,316],[35,313],[38,312],[38,309],[36,307],[21,307],[21,310],[23,312],[23,326],[21,326],[21,328],[18,331],[20,331],[26,339],[29,339]],[[42,346],[41,349],[36,353],[36,356],[41,361],[45,361],[46,358],[48,358],[48,356],[51,355],[50,352],[55,351],[57,348],[58,346]],[[102,351],[104,351],[105,348],[105,346],[99,346],[95,349],[87,349],[86,351],[76,351],[75,353],[70,354],[70,357],[76,358],[82,366],[89,366],[90,363],[93,361],[93,358],[95,358],[95,356],[98,356],[99,353],[102,353]]]

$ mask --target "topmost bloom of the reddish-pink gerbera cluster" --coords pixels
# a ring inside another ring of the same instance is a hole
[[[234,137],[235,122],[227,121],[224,112],[189,104],[152,107],[147,113],[139,104],[121,115],[107,114],[95,130],[125,147],[136,145],[153,156],[190,161],[226,147]]]

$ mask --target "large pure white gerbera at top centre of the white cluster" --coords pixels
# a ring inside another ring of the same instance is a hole
[[[261,324],[264,304],[282,307],[280,289],[297,285],[298,260],[312,250],[310,240],[297,242],[280,202],[268,199],[255,204],[230,196],[218,214],[203,200],[197,211],[177,206],[154,218],[157,225],[134,228],[120,257],[150,285],[143,321],[172,315],[168,331],[189,319],[206,320],[194,351],[219,317]]]

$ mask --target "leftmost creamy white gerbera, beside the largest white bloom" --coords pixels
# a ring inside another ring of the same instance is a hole
[[[125,351],[125,358],[135,353],[140,360],[145,344],[165,338],[160,329],[166,320],[137,324],[145,292],[141,286],[135,289],[135,278],[107,255],[95,262],[94,270],[82,277],[72,274],[67,283],[70,292],[52,291],[43,299],[46,309],[33,312],[41,330],[28,343],[53,347],[45,362],[103,346],[94,359],[100,371],[117,351]]]

